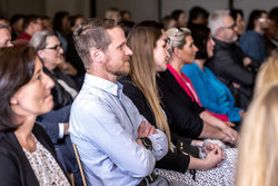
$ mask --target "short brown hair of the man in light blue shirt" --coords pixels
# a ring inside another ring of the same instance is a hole
[[[112,19],[92,18],[75,28],[73,42],[86,69],[91,65],[89,50],[95,47],[106,51],[111,43],[107,30],[115,27],[120,26]]]

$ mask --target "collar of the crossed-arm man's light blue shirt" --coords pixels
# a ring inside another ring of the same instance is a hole
[[[115,96],[119,96],[122,92],[122,85],[118,81],[112,82],[109,80],[106,80],[103,78],[86,74],[85,75],[85,85],[97,87],[99,89],[102,89],[105,91],[108,91]]]

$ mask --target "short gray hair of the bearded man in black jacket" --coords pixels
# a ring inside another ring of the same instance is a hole
[[[229,10],[216,10],[209,16],[209,25],[208,27],[211,30],[211,36],[216,37],[216,31],[224,27],[224,17],[230,16]]]

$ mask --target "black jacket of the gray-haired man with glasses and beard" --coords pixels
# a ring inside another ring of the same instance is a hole
[[[244,55],[236,43],[227,43],[215,39],[214,57],[206,62],[216,77],[221,80],[235,97],[237,107],[247,109],[254,92],[255,78],[259,68],[256,60],[244,66]],[[240,85],[236,88],[232,82]]]

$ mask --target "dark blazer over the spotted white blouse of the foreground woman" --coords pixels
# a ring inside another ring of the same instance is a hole
[[[61,167],[63,174],[67,175],[67,172],[57,159],[54,147],[43,128],[34,124],[32,134],[43,145],[43,147],[51,153],[58,165]],[[12,131],[0,133],[0,185],[39,186],[39,182],[32,170],[32,167]],[[67,178],[69,180],[68,175]]]

